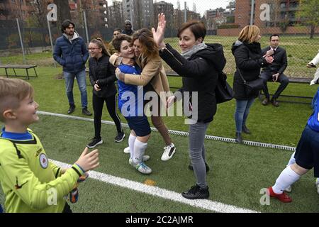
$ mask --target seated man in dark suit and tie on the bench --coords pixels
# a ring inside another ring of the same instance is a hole
[[[273,106],[279,106],[277,99],[281,92],[283,92],[289,84],[289,79],[284,74],[284,70],[286,70],[286,67],[288,65],[287,54],[284,48],[279,47],[278,34],[272,34],[269,38],[269,41],[270,45],[267,48],[264,48],[262,52],[265,55],[268,50],[274,50],[274,62],[272,62],[271,65],[264,67],[264,69],[262,70],[261,77],[262,79],[264,79],[264,89],[262,90],[265,95],[265,99],[262,101],[262,104],[266,106],[267,104],[272,103]],[[267,81],[269,81],[270,79],[272,79],[273,82],[280,83],[275,94],[272,96],[272,99],[270,99],[267,87]]]

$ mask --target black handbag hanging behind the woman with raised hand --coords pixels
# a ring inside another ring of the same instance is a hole
[[[216,103],[221,104],[225,101],[233,99],[234,91],[226,81],[227,75],[225,72],[218,73],[218,80],[215,89]]]

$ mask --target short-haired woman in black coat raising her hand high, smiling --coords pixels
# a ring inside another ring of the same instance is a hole
[[[167,100],[167,107],[183,98],[184,114],[191,114],[189,123],[189,157],[196,177],[196,185],[181,195],[186,199],[207,199],[206,154],[204,139],[209,123],[216,114],[215,89],[218,72],[223,70],[226,60],[223,46],[205,44],[206,28],[201,21],[184,23],[178,31],[181,54],[169,44],[165,45],[164,14],[159,15],[157,31],[153,28],[154,40],[159,45],[159,56],[183,77],[183,87]],[[186,94],[189,94],[187,96]],[[190,111],[191,110],[191,111]]]

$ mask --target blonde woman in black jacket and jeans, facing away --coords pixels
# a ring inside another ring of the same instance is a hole
[[[260,29],[257,26],[245,26],[240,31],[238,40],[233,43],[232,52],[236,62],[236,72],[234,76],[233,89],[236,99],[235,123],[236,123],[236,142],[242,143],[242,132],[250,133],[246,126],[247,116],[250,107],[257,98],[259,91],[247,94],[242,77],[247,82],[258,79],[261,67],[266,67],[272,63],[272,50],[262,55],[260,48]],[[242,77],[240,77],[240,73]]]

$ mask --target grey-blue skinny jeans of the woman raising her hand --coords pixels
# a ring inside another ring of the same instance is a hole
[[[208,126],[209,122],[197,122],[189,125],[189,157],[191,157],[191,164],[193,164],[196,184],[201,188],[207,186],[204,140]]]

